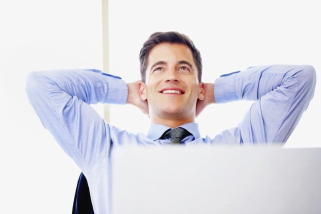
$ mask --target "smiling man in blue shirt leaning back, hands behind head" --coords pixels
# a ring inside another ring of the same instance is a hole
[[[26,92],[44,127],[86,176],[95,213],[110,213],[114,147],[282,144],[315,87],[310,65],[255,66],[203,83],[199,51],[178,32],[153,33],[140,51],[140,64],[141,81],[128,84],[95,69],[32,72],[27,79]],[[212,139],[200,136],[194,120],[206,105],[239,99],[256,101],[238,126]],[[149,132],[128,133],[107,123],[89,106],[97,102],[136,105],[149,114]]]

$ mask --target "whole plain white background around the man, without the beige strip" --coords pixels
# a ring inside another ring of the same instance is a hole
[[[139,79],[142,42],[154,31],[176,30],[200,50],[205,82],[272,63],[312,64],[318,77],[317,5],[312,0],[111,0],[110,73],[127,82]],[[0,213],[71,213],[80,170],[42,127],[24,85],[32,70],[101,69],[101,34],[100,0],[0,2]],[[321,147],[320,96],[317,80],[285,147]],[[202,135],[236,125],[250,103],[211,105],[197,118]],[[95,108],[102,113],[102,105]],[[111,106],[110,119],[129,131],[148,129],[148,117],[133,106]]]

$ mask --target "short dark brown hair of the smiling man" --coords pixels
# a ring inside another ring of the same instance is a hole
[[[199,50],[195,47],[192,40],[187,35],[176,31],[168,31],[168,32],[154,32],[149,38],[143,43],[142,48],[139,53],[140,60],[140,76],[141,80],[145,82],[146,80],[146,66],[147,66],[147,58],[150,50],[160,43],[177,43],[177,44],[185,44],[191,50],[193,54],[194,63],[197,67],[197,77],[198,81],[201,81],[201,70],[202,70],[202,62],[200,57]]]

